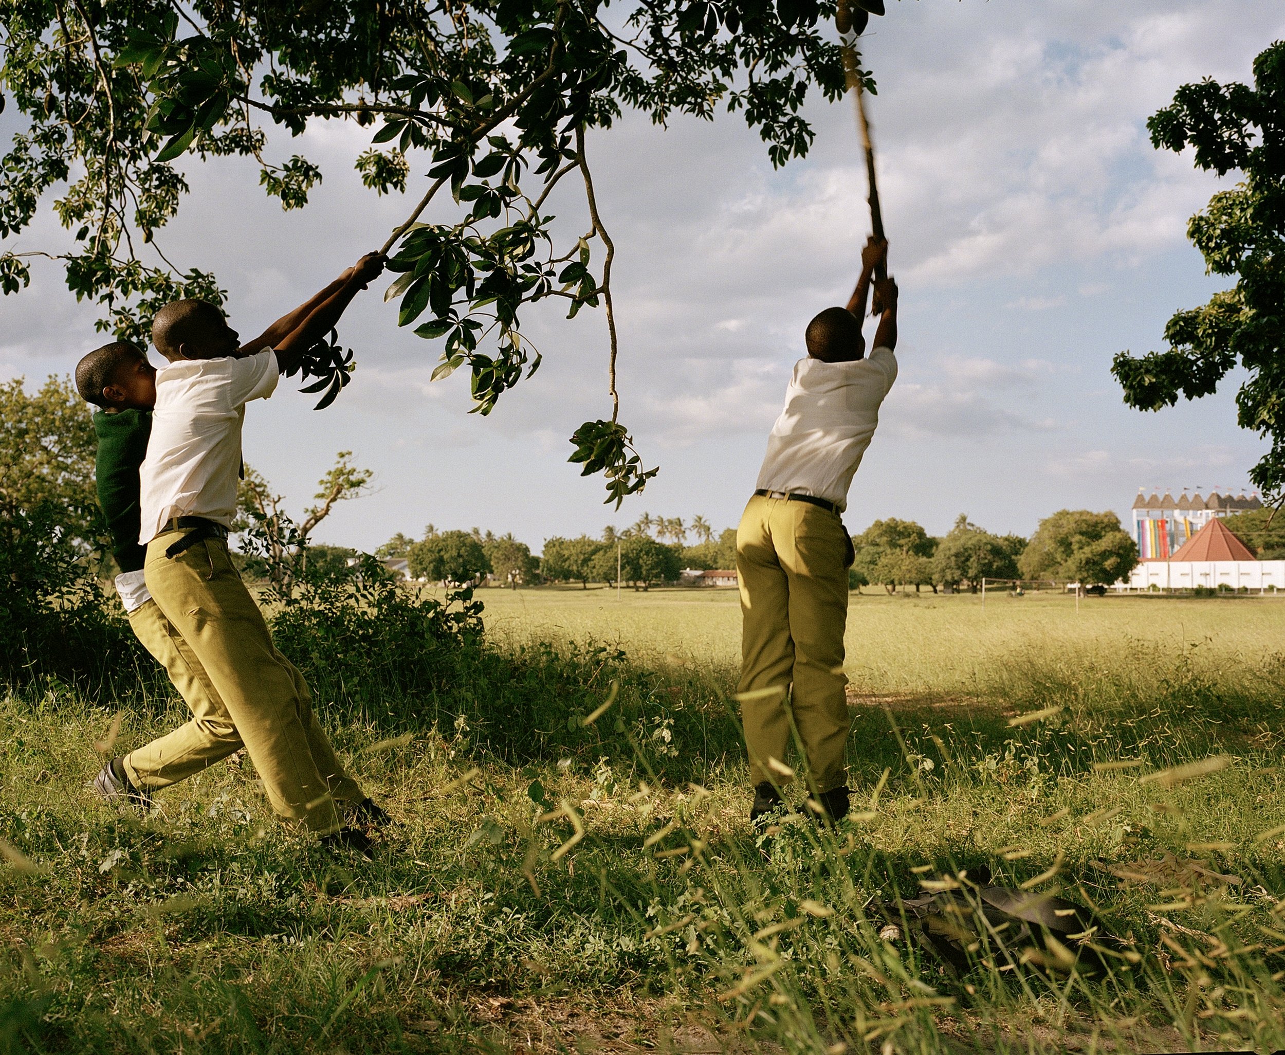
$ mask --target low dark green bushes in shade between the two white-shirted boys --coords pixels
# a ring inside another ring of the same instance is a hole
[[[346,573],[308,572],[276,601],[274,640],[329,722],[391,734],[436,729],[519,763],[551,756],[592,763],[641,748],[672,780],[693,779],[711,754],[740,750],[722,686],[689,678],[680,690],[672,676],[594,643],[500,649],[484,639],[472,589],[438,600],[400,586],[366,556]],[[586,726],[613,681],[612,707]]]

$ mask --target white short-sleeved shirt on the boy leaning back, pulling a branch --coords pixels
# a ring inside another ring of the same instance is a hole
[[[271,396],[279,378],[271,350],[240,359],[185,359],[157,370],[152,437],[139,469],[144,546],[172,517],[231,527],[245,403]]]

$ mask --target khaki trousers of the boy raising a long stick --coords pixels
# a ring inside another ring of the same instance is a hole
[[[810,502],[756,495],[736,529],[741,671],[738,691],[780,687],[741,700],[750,780],[786,783],[790,718],[817,793],[847,781],[848,704],[843,631],[848,619],[848,535]],[[786,689],[793,685],[786,707]]]

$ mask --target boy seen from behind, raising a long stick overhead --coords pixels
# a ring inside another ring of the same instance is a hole
[[[738,695],[754,784],[753,822],[781,804],[779,789],[792,774],[784,762],[792,725],[807,756],[817,811],[831,822],[848,812],[843,632],[852,540],[840,514],[879,424],[879,405],[897,378],[892,279],[875,281],[880,317],[869,359],[861,334],[870,278],[887,251],[888,243],[871,238],[848,306],[826,308],[808,323],[808,357],[794,365],[754,497],[736,529],[743,618]]]

